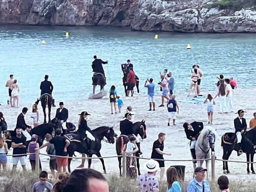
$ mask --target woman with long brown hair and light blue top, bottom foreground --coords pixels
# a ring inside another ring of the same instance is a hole
[[[166,171],[167,190],[166,192],[181,192],[178,172],[174,167],[169,167]]]

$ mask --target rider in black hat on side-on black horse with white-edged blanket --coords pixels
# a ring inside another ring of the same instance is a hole
[[[80,136],[80,140],[83,141],[85,138],[90,139],[90,143],[88,148],[90,148],[89,153],[94,154],[95,153],[95,137],[91,133],[91,128],[87,126],[87,116],[91,115],[87,113],[86,111],[83,111],[80,115],[80,119],[78,122],[78,130],[77,134]]]

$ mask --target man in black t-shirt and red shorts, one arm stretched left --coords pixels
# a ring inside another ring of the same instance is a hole
[[[63,156],[63,157],[56,157],[56,162],[57,162],[57,168],[58,168],[58,172],[61,173],[62,172],[62,168],[63,168],[63,172],[66,172],[66,166],[68,163],[68,154],[66,152],[66,148],[68,147],[68,145],[70,144],[69,140],[66,139],[64,136],[61,136],[62,134],[62,130],[60,128],[57,128],[55,130],[56,136],[53,137],[50,141],[48,141],[47,143],[43,144],[41,147],[36,148],[35,150],[38,149],[42,149],[50,144],[54,144],[55,147],[55,154],[56,156]]]

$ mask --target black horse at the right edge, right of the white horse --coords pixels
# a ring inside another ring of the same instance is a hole
[[[235,133],[232,132],[227,132],[222,136],[223,160],[228,160],[233,150],[236,152],[239,151],[237,139],[234,139],[235,137]],[[253,161],[254,154],[256,153],[256,128],[247,131],[244,135],[242,134],[241,144],[243,152],[246,153],[247,162],[252,162],[251,170],[252,173],[255,174]],[[250,174],[249,165],[250,163],[247,163],[247,174]],[[230,173],[227,161],[223,161],[223,172]]]

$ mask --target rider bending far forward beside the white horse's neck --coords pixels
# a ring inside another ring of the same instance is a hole
[[[192,159],[194,160],[193,163],[196,163],[195,143],[201,130],[203,129],[203,123],[194,121],[191,124],[188,124],[187,122],[185,122],[183,124],[183,128],[185,128],[185,133],[187,135],[187,138],[191,140],[190,151],[191,151]]]

